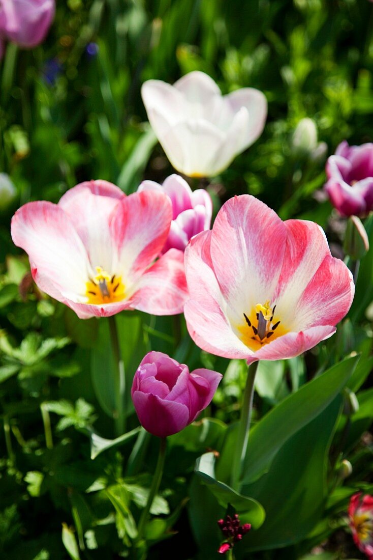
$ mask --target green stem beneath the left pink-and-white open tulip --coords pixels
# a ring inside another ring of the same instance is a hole
[[[126,391],[126,378],[124,372],[124,362],[121,357],[118,330],[116,326],[115,316],[112,315],[108,318],[110,328],[111,347],[115,363],[115,431],[116,436],[119,437],[125,432],[125,391]]]

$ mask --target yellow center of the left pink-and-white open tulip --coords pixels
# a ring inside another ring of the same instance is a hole
[[[96,276],[86,282],[87,304],[112,304],[125,298],[125,286],[121,276],[112,276],[101,267],[96,267]]]

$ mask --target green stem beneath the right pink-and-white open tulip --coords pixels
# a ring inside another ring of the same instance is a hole
[[[246,385],[243,395],[241,418],[238,427],[237,442],[233,455],[232,487],[239,491],[243,463],[249,439],[249,430],[254,398],[254,381],[259,362],[252,363],[247,371]]]

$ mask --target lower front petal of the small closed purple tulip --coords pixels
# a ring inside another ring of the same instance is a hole
[[[184,404],[140,391],[134,391],[132,398],[140,423],[154,436],[171,436],[188,424],[189,411]]]

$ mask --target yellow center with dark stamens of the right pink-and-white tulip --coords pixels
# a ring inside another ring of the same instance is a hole
[[[268,344],[278,337],[289,332],[281,325],[281,321],[276,317],[276,305],[271,307],[270,301],[265,304],[257,304],[249,315],[243,314],[244,322],[238,326],[241,333],[240,339],[251,350],[259,350],[263,344]]]

